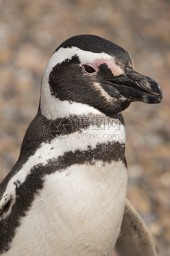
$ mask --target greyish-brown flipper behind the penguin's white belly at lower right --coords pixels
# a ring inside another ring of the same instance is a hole
[[[120,236],[115,244],[119,256],[156,256],[151,233],[135,208],[126,199]]]

